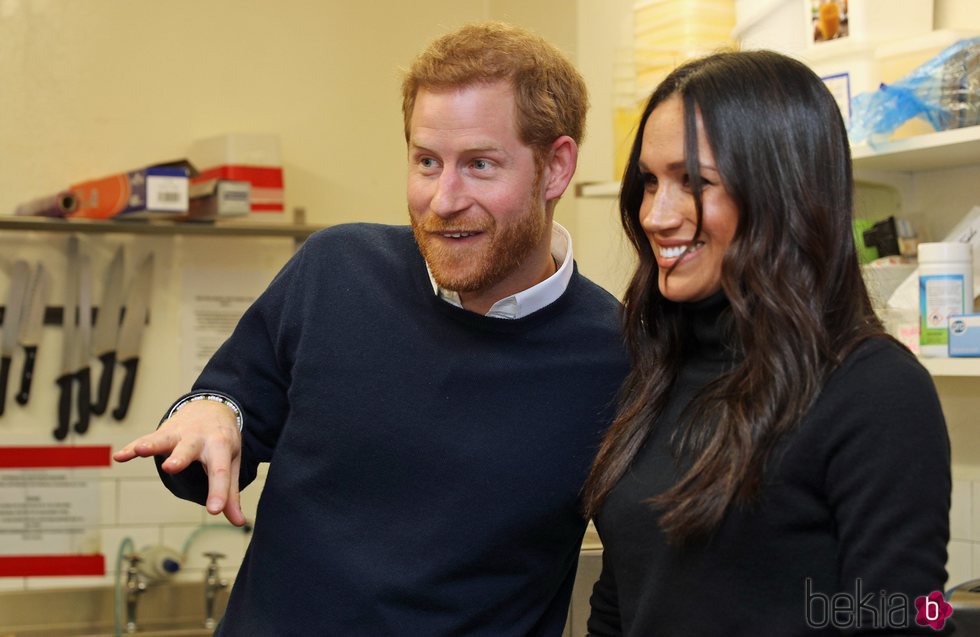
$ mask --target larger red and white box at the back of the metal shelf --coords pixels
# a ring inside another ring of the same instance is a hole
[[[285,197],[279,136],[231,133],[195,142],[188,157],[198,168],[192,184],[209,180],[251,184],[250,221],[284,221]]]

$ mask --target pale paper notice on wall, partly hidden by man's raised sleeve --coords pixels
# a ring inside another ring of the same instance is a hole
[[[273,273],[194,267],[184,270],[181,303],[181,381],[190,388]]]

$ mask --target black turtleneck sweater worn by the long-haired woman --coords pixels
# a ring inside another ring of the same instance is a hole
[[[942,634],[916,623],[914,600],[946,579],[949,439],[928,373],[885,338],[833,372],[775,450],[757,505],[730,509],[708,539],[667,544],[647,501],[679,478],[670,440],[683,408],[731,364],[727,301],[685,309],[670,400],[595,520],[604,551],[589,634]]]

